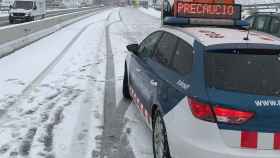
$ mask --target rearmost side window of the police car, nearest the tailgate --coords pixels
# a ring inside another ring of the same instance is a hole
[[[193,48],[180,40],[175,51],[172,67],[180,74],[190,73],[193,64]]]

